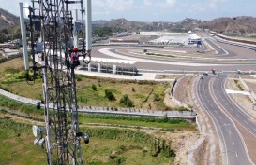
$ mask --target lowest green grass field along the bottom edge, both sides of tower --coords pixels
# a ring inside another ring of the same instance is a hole
[[[45,152],[33,144],[35,137],[31,128],[31,125],[0,117],[1,165],[46,164]],[[85,164],[155,165],[173,162],[174,157],[170,157],[169,149],[167,150],[169,144],[154,155],[156,151],[152,147],[156,140],[143,132],[111,128],[82,130],[91,136],[89,144],[82,143]]]

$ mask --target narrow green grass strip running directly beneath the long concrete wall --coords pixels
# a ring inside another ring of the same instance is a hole
[[[7,97],[0,95],[0,106],[8,108],[15,116],[32,118],[38,121],[44,121],[43,110],[37,110],[35,105],[20,103]],[[15,109],[15,110],[13,110]],[[3,111],[3,110],[2,110]],[[81,124],[109,124],[109,125],[122,125],[123,127],[135,126],[135,127],[154,127],[166,131],[196,131],[194,124],[189,124],[185,120],[167,118],[155,118],[155,117],[121,117],[121,116],[100,116],[100,115],[79,115],[79,121]]]

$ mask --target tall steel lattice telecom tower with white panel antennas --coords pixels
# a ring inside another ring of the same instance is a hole
[[[43,82],[45,127],[33,126],[37,137],[34,144],[46,151],[48,165],[83,164],[81,139],[89,142],[88,135],[79,130],[74,74],[80,62],[89,63],[91,58],[91,0],[84,2],[85,9],[83,0],[32,0],[32,6],[26,8],[26,22],[20,3],[25,69],[33,71],[34,80],[42,76]],[[74,7],[80,7],[81,21],[77,10],[71,12]],[[32,66],[28,62],[26,32],[30,34]],[[78,48],[76,56],[72,48]]]

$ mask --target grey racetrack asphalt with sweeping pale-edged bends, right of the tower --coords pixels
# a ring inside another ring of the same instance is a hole
[[[256,52],[248,48],[237,47],[229,44],[219,43],[214,39],[205,39],[212,48],[215,48],[218,52],[216,55],[199,54],[198,59],[186,57],[150,57],[150,56],[138,56],[131,53],[122,53],[117,51],[118,48],[138,48],[128,46],[97,46],[93,48],[92,56],[100,58],[113,58],[113,59],[132,59],[137,61],[135,67],[137,69],[146,70],[255,70],[256,67]],[[100,49],[110,49],[110,54],[116,54],[116,56],[108,55],[108,53],[100,52]],[[140,48],[152,48],[152,47],[140,47]],[[154,48],[156,50],[170,50],[172,48]],[[174,50],[188,50],[189,48],[173,48]],[[190,49],[191,50],[191,49]],[[118,57],[119,56],[119,57]],[[219,58],[219,59],[217,59]],[[198,63],[198,65],[197,65]]]

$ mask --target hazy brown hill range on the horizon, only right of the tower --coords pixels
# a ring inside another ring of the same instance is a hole
[[[102,22],[102,21],[101,21]],[[139,22],[128,21],[126,19],[116,19],[104,21],[94,26],[105,26],[113,29],[114,32],[119,31],[172,31],[172,32],[188,32],[195,28],[209,29],[220,34],[251,34],[256,33],[256,18],[254,17],[235,17],[235,18],[218,18],[212,21],[199,21],[195,19],[185,19],[179,22]]]

